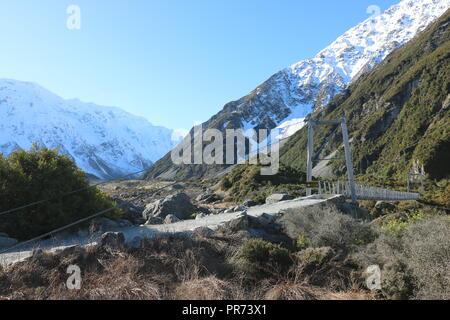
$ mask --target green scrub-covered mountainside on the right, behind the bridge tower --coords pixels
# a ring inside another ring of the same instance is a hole
[[[401,181],[410,172],[448,178],[450,10],[312,118],[335,119],[342,114],[348,119],[357,173]],[[317,158],[343,156],[342,136],[335,129],[317,128]],[[306,140],[303,128],[282,148],[282,162],[305,170]],[[320,165],[328,167],[328,173],[345,172],[343,161]]]

